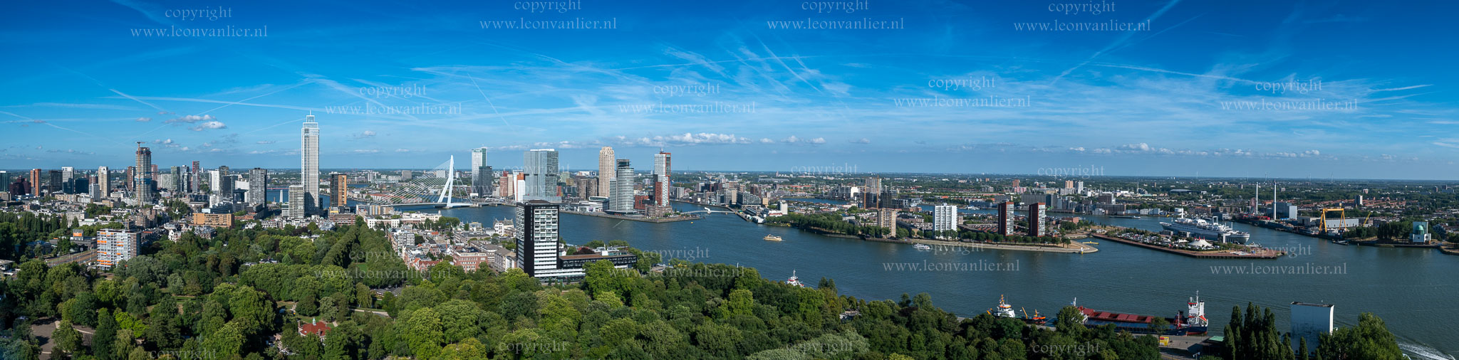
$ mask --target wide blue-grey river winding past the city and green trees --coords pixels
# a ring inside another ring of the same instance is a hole
[[[680,211],[702,208],[681,203],[674,207]],[[441,211],[486,226],[514,216],[514,207],[401,210]],[[1163,220],[1088,219],[1147,230],[1160,230]],[[1459,300],[1459,257],[1434,249],[1334,245],[1240,223],[1234,226],[1250,232],[1252,242],[1285,248],[1293,255],[1255,261],[1196,259],[1115,242],[1096,245],[1099,252],[1083,255],[998,249],[926,252],[907,245],[753,224],[734,214],[677,223],[563,214],[560,230],[569,243],[623,239],[645,251],[692,255],[696,262],[753,267],[770,280],[785,280],[795,271],[814,286],[829,277],[836,280],[840,293],[862,299],[897,300],[903,293],[925,291],[940,308],[963,316],[982,313],[996,306],[999,296],[1007,296],[1014,309],[1029,313],[1037,309],[1046,316],[1077,297],[1080,305],[1100,310],[1173,318],[1185,309],[1188,297],[1199,291],[1207,302],[1211,335],[1218,335],[1231,306],[1252,302],[1272,308],[1278,328],[1288,331],[1291,302],[1332,303],[1338,326],[1357,324],[1361,312],[1383,318],[1414,359],[1459,356],[1459,337],[1455,337],[1459,334],[1455,329],[1459,306],[1453,303]],[[762,239],[765,235],[785,240],[767,242]],[[931,268],[924,262],[964,265]],[[1243,267],[1247,274],[1227,274],[1242,270],[1217,267]],[[1268,274],[1250,274],[1252,267]],[[1272,267],[1323,267],[1326,274],[1269,274],[1282,271]]]

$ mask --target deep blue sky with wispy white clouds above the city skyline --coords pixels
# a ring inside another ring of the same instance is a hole
[[[312,111],[322,168],[433,168],[486,146],[499,168],[554,147],[587,169],[613,146],[689,171],[1459,176],[1452,3],[514,9],[534,3],[9,1],[0,168],[125,166],[134,141],[162,166],[293,168]],[[579,17],[614,28],[483,23]],[[893,25],[781,28],[795,20]],[[1018,28],[1055,20],[1148,28]],[[228,26],[267,36],[139,32]]]

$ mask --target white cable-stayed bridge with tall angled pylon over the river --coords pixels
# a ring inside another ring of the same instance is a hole
[[[410,179],[391,184],[384,191],[352,191],[350,197],[360,203],[390,207],[438,206],[451,208],[480,206],[479,203],[452,197],[454,194],[470,194],[467,185],[455,184],[455,156],[429,171],[413,171],[411,173]]]

